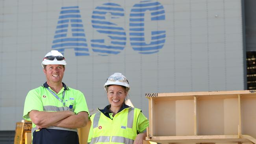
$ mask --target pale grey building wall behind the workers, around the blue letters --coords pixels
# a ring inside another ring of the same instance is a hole
[[[122,10],[117,17],[106,13],[105,21],[116,24],[120,31],[115,31],[125,33],[125,39],[119,41],[123,42],[119,54],[102,56],[93,51],[91,40],[104,39],[111,45],[111,39],[97,31],[103,27],[93,28],[97,17],[92,16],[93,11],[106,12],[96,9],[106,3]],[[139,37],[132,34],[131,23],[136,23],[132,9],[145,3],[152,3],[146,5],[152,10],[137,12],[144,18],[141,37],[148,47],[165,40],[152,54],[134,50],[130,39]],[[46,81],[41,61],[58,39],[54,37],[61,7],[74,6],[81,15],[89,55],[75,55],[73,48],[63,51],[67,60],[63,82],[84,93],[89,109],[108,104],[103,85],[114,72],[128,78],[129,97],[146,116],[145,93],[244,89],[241,0],[0,0],[0,130],[15,129],[27,92]],[[164,10],[164,19],[152,21],[159,9]],[[72,37],[70,26],[67,37]],[[151,31],[164,31],[165,36],[156,34],[152,40]]]

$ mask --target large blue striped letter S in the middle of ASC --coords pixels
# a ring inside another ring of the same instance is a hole
[[[107,17],[107,14],[110,14]],[[98,55],[119,54],[126,45],[126,33],[124,28],[111,22],[124,17],[124,9],[115,3],[105,3],[97,6],[92,15],[92,26],[99,33],[105,34],[107,39],[92,39],[91,47]],[[110,42],[109,42],[110,41]]]

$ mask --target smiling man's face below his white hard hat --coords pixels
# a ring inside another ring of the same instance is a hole
[[[63,67],[63,65],[46,65],[44,68],[44,73],[46,75],[47,82],[62,82],[64,71],[65,67]]]

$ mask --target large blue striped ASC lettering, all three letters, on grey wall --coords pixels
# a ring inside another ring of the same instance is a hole
[[[145,0],[134,4],[130,11],[129,35],[132,49],[139,54],[159,52],[164,46],[166,37],[165,30],[155,30],[151,31],[151,41],[145,41],[146,11],[150,11],[152,22],[165,20],[165,10],[160,2]],[[124,18],[124,16],[124,8],[119,4],[108,2],[96,6],[91,16],[92,27],[108,39],[102,37],[91,39],[91,49],[89,49],[79,7],[61,7],[52,49],[64,54],[65,49],[71,48],[74,49],[76,56],[90,55],[89,50],[102,56],[119,54],[126,46],[126,32],[111,20]]]

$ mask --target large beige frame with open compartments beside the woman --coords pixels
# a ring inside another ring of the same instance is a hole
[[[147,138],[169,143],[256,143],[256,90],[146,94]]]

